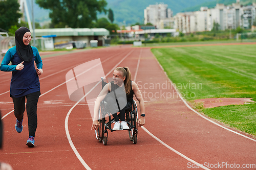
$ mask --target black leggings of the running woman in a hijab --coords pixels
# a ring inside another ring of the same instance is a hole
[[[29,135],[35,137],[35,131],[37,128],[37,102],[40,95],[40,91],[30,93],[20,98],[14,98],[11,96],[14,104],[14,115],[19,122],[23,120],[25,111],[25,98],[27,98],[27,115]]]

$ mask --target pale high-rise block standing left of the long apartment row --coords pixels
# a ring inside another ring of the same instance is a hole
[[[152,23],[157,29],[161,28],[161,20],[171,18],[173,11],[167,8],[167,4],[150,5],[144,9],[144,24]]]

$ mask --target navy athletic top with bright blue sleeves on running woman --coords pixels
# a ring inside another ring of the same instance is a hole
[[[24,68],[22,70],[16,70],[16,65],[23,62],[23,60],[18,57],[16,46],[13,46],[7,51],[1,63],[1,71],[12,71],[10,92],[11,96],[14,98],[40,91],[40,83],[34,61],[36,67],[39,69],[42,68],[42,60],[37,48],[34,46],[31,47],[34,54],[33,59],[30,62],[24,61]],[[12,65],[8,65],[10,62],[12,62]]]

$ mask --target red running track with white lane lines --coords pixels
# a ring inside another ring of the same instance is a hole
[[[75,105],[70,101],[65,77],[73,67],[97,58],[105,74],[123,60],[119,66],[130,68],[132,80],[136,75],[145,101],[144,128],[158,140],[142,128],[137,144],[130,141],[127,131],[109,132],[106,146],[96,140],[88,104]],[[78,51],[44,58],[43,63],[34,148],[26,145],[26,116],[23,132],[14,129],[16,119],[7,92],[11,73],[0,72],[0,109],[2,116],[6,115],[0,161],[14,169],[195,169],[195,162],[205,169],[233,169],[232,166],[256,164],[256,142],[212,124],[188,109],[149,48],[123,45]]]

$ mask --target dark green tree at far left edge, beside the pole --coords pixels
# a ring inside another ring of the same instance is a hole
[[[19,12],[17,0],[0,1],[0,28],[9,30],[11,26],[18,25]]]

